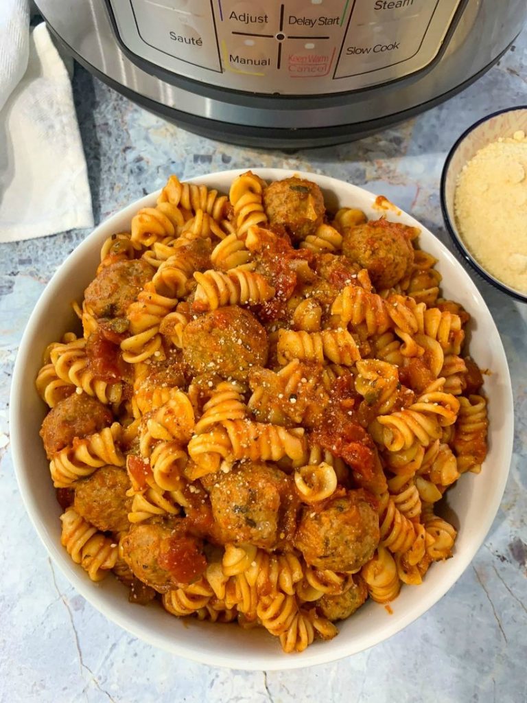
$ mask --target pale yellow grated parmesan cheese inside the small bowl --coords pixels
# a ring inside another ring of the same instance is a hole
[[[527,292],[527,137],[516,131],[480,149],[454,196],[457,229],[483,269]]]

